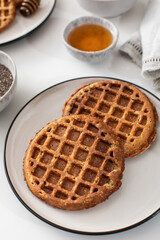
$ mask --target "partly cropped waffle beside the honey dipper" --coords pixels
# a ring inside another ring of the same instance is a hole
[[[0,0],[0,32],[7,28],[16,15],[14,0]]]

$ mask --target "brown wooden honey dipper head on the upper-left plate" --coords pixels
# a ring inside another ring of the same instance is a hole
[[[39,5],[40,0],[23,0],[20,4],[19,11],[23,16],[28,17],[38,9]]]

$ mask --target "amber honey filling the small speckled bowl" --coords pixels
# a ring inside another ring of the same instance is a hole
[[[100,51],[113,42],[112,33],[97,24],[83,24],[73,29],[68,35],[68,43],[81,51]]]

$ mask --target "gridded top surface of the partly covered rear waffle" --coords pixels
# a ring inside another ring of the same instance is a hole
[[[103,82],[99,87],[93,84],[78,91],[64,107],[64,115],[69,114],[85,114],[103,120],[124,144],[126,141],[133,143],[142,135],[150,113],[136,88],[125,83]]]

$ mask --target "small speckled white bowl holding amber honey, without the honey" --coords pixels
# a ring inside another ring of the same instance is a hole
[[[81,51],[77,48],[72,47],[67,41],[68,35],[73,29],[84,24],[96,24],[108,29],[113,37],[112,44],[109,47],[99,51]],[[73,20],[66,26],[63,33],[63,41],[68,51],[74,57],[82,61],[96,63],[102,61],[114,49],[118,40],[118,35],[118,30],[111,21],[100,17],[85,16]]]

